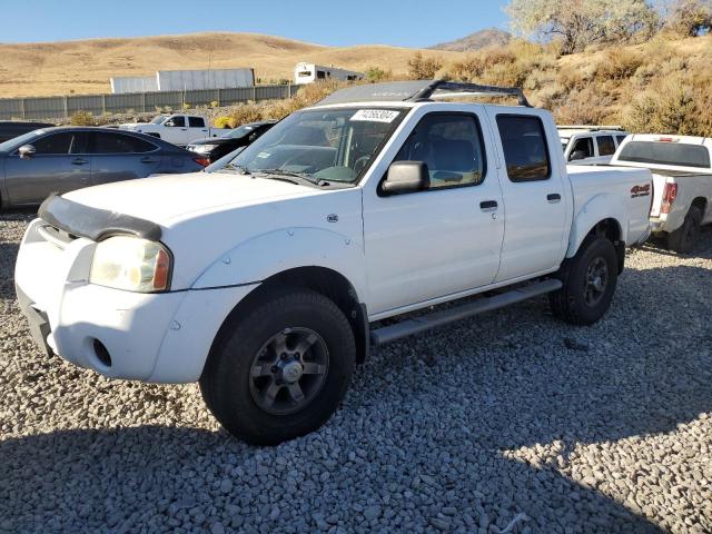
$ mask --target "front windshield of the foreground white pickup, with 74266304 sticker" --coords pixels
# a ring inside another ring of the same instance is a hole
[[[406,109],[298,111],[243,150],[225,168],[295,176],[315,184],[355,184],[400,123]]]

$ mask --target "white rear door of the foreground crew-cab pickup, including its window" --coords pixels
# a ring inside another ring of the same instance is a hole
[[[554,125],[526,110],[497,113],[491,108],[490,113],[505,162],[505,231],[496,281],[555,270],[565,250],[572,200],[563,158],[552,152],[558,145],[547,142],[557,139]]]

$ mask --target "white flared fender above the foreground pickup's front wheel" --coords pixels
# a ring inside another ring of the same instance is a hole
[[[256,284],[298,267],[335,270],[359,297],[367,293],[363,244],[336,231],[310,227],[283,228],[240,243],[217,258],[191,287]]]

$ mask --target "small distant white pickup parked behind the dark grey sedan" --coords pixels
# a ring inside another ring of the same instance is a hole
[[[179,147],[195,139],[220,137],[231,131],[228,128],[211,128],[205,117],[194,115],[159,115],[150,122],[128,122],[120,125],[119,129],[158,137]]]

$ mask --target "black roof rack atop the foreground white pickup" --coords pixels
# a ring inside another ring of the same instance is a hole
[[[455,97],[515,97],[520,106],[531,107],[518,87],[494,87],[447,80],[390,81],[354,86],[333,92],[317,106],[364,101],[423,102]]]

